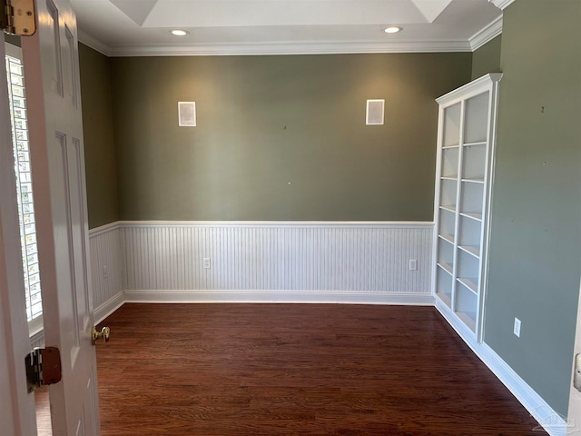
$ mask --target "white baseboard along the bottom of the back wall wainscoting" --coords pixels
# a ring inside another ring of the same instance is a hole
[[[132,290],[123,291],[125,302],[291,302],[344,304],[434,305],[427,294],[330,291],[263,290]]]

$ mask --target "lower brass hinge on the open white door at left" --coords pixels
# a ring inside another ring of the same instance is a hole
[[[26,381],[28,393],[44,384],[54,384],[63,377],[61,352],[56,347],[35,348],[26,355]]]

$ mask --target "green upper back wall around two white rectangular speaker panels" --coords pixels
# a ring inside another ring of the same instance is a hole
[[[123,220],[432,221],[470,53],[113,58]],[[365,125],[386,99],[386,124]],[[198,126],[178,127],[195,101]]]

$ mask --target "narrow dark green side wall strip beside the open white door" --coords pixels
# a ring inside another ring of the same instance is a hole
[[[89,228],[119,221],[109,58],[79,45]]]

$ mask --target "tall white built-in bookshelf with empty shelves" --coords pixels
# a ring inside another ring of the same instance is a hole
[[[478,341],[501,77],[487,74],[437,99],[433,290],[440,311]]]

